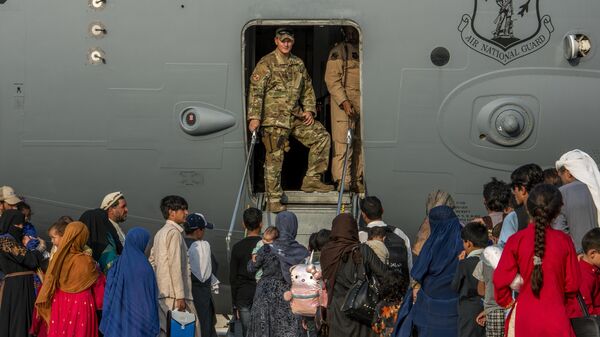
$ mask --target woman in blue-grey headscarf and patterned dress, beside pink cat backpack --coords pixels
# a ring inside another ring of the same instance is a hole
[[[277,214],[275,226],[279,238],[258,251],[256,262],[248,263],[251,273],[263,270],[254,294],[248,337],[296,337],[301,333],[300,317],[292,313],[283,294],[291,286],[289,268],[302,263],[308,250],[296,241],[298,219],[294,213]]]

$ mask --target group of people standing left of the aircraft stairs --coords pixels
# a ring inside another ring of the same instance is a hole
[[[166,196],[165,225],[154,236],[127,234],[121,192],[78,221],[61,216],[48,229],[48,251],[31,208],[10,186],[0,194],[0,336],[166,336],[169,311],[196,314],[195,336],[216,337],[212,293],[216,259],[203,240],[213,225]],[[199,314],[198,314],[199,313]]]

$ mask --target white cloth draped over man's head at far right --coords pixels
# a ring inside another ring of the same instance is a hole
[[[600,172],[594,159],[581,150],[572,150],[563,154],[556,162],[557,170],[562,167],[569,170],[575,179],[587,185],[592,199],[594,199],[596,211],[598,211],[598,221],[600,221]]]

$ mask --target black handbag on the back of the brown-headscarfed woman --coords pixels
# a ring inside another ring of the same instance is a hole
[[[352,252],[354,254],[354,251]],[[360,271],[360,278],[359,273]],[[379,302],[379,285],[371,275],[361,257],[356,271],[354,285],[348,290],[341,311],[352,320],[371,326],[375,318],[375,307]]]

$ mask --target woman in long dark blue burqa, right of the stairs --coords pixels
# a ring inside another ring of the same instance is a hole
[[[411,270],[412,291],[398,313],[394,336],[457,337],[458,294],[450,288],[463,250],[461,224],[448,206],[429,212],[431,235]]]

